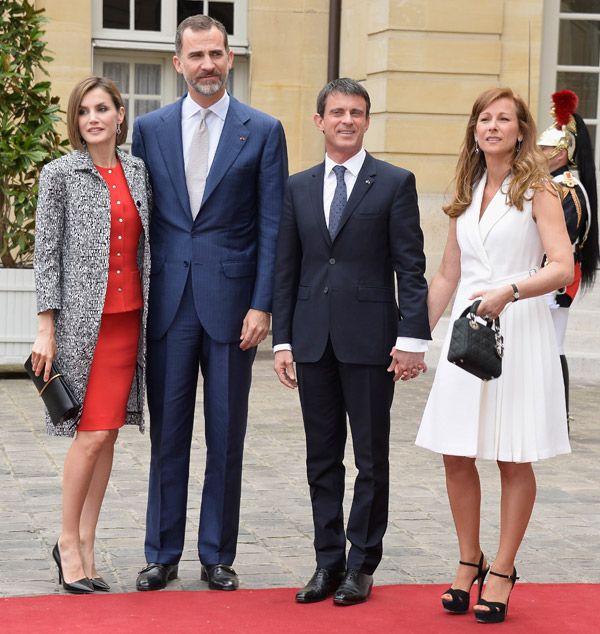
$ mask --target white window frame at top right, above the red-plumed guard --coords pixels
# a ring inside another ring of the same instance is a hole
[[[550,95],[556,91],[557,73],[571,71],[598,75],[596,116],[586,117],[584,121],[589,125],[595,126],[594,160],[598,175],[600,175],[600,60],[598,60],[598,66],[567,66],[558,63],[558,35],[561,20],[596,21],[600,20],[600,11],[598,13],[562,13],[560,11],[560,0],[544,1],[538,127],[540,130],[545,130],[552,124]]]

